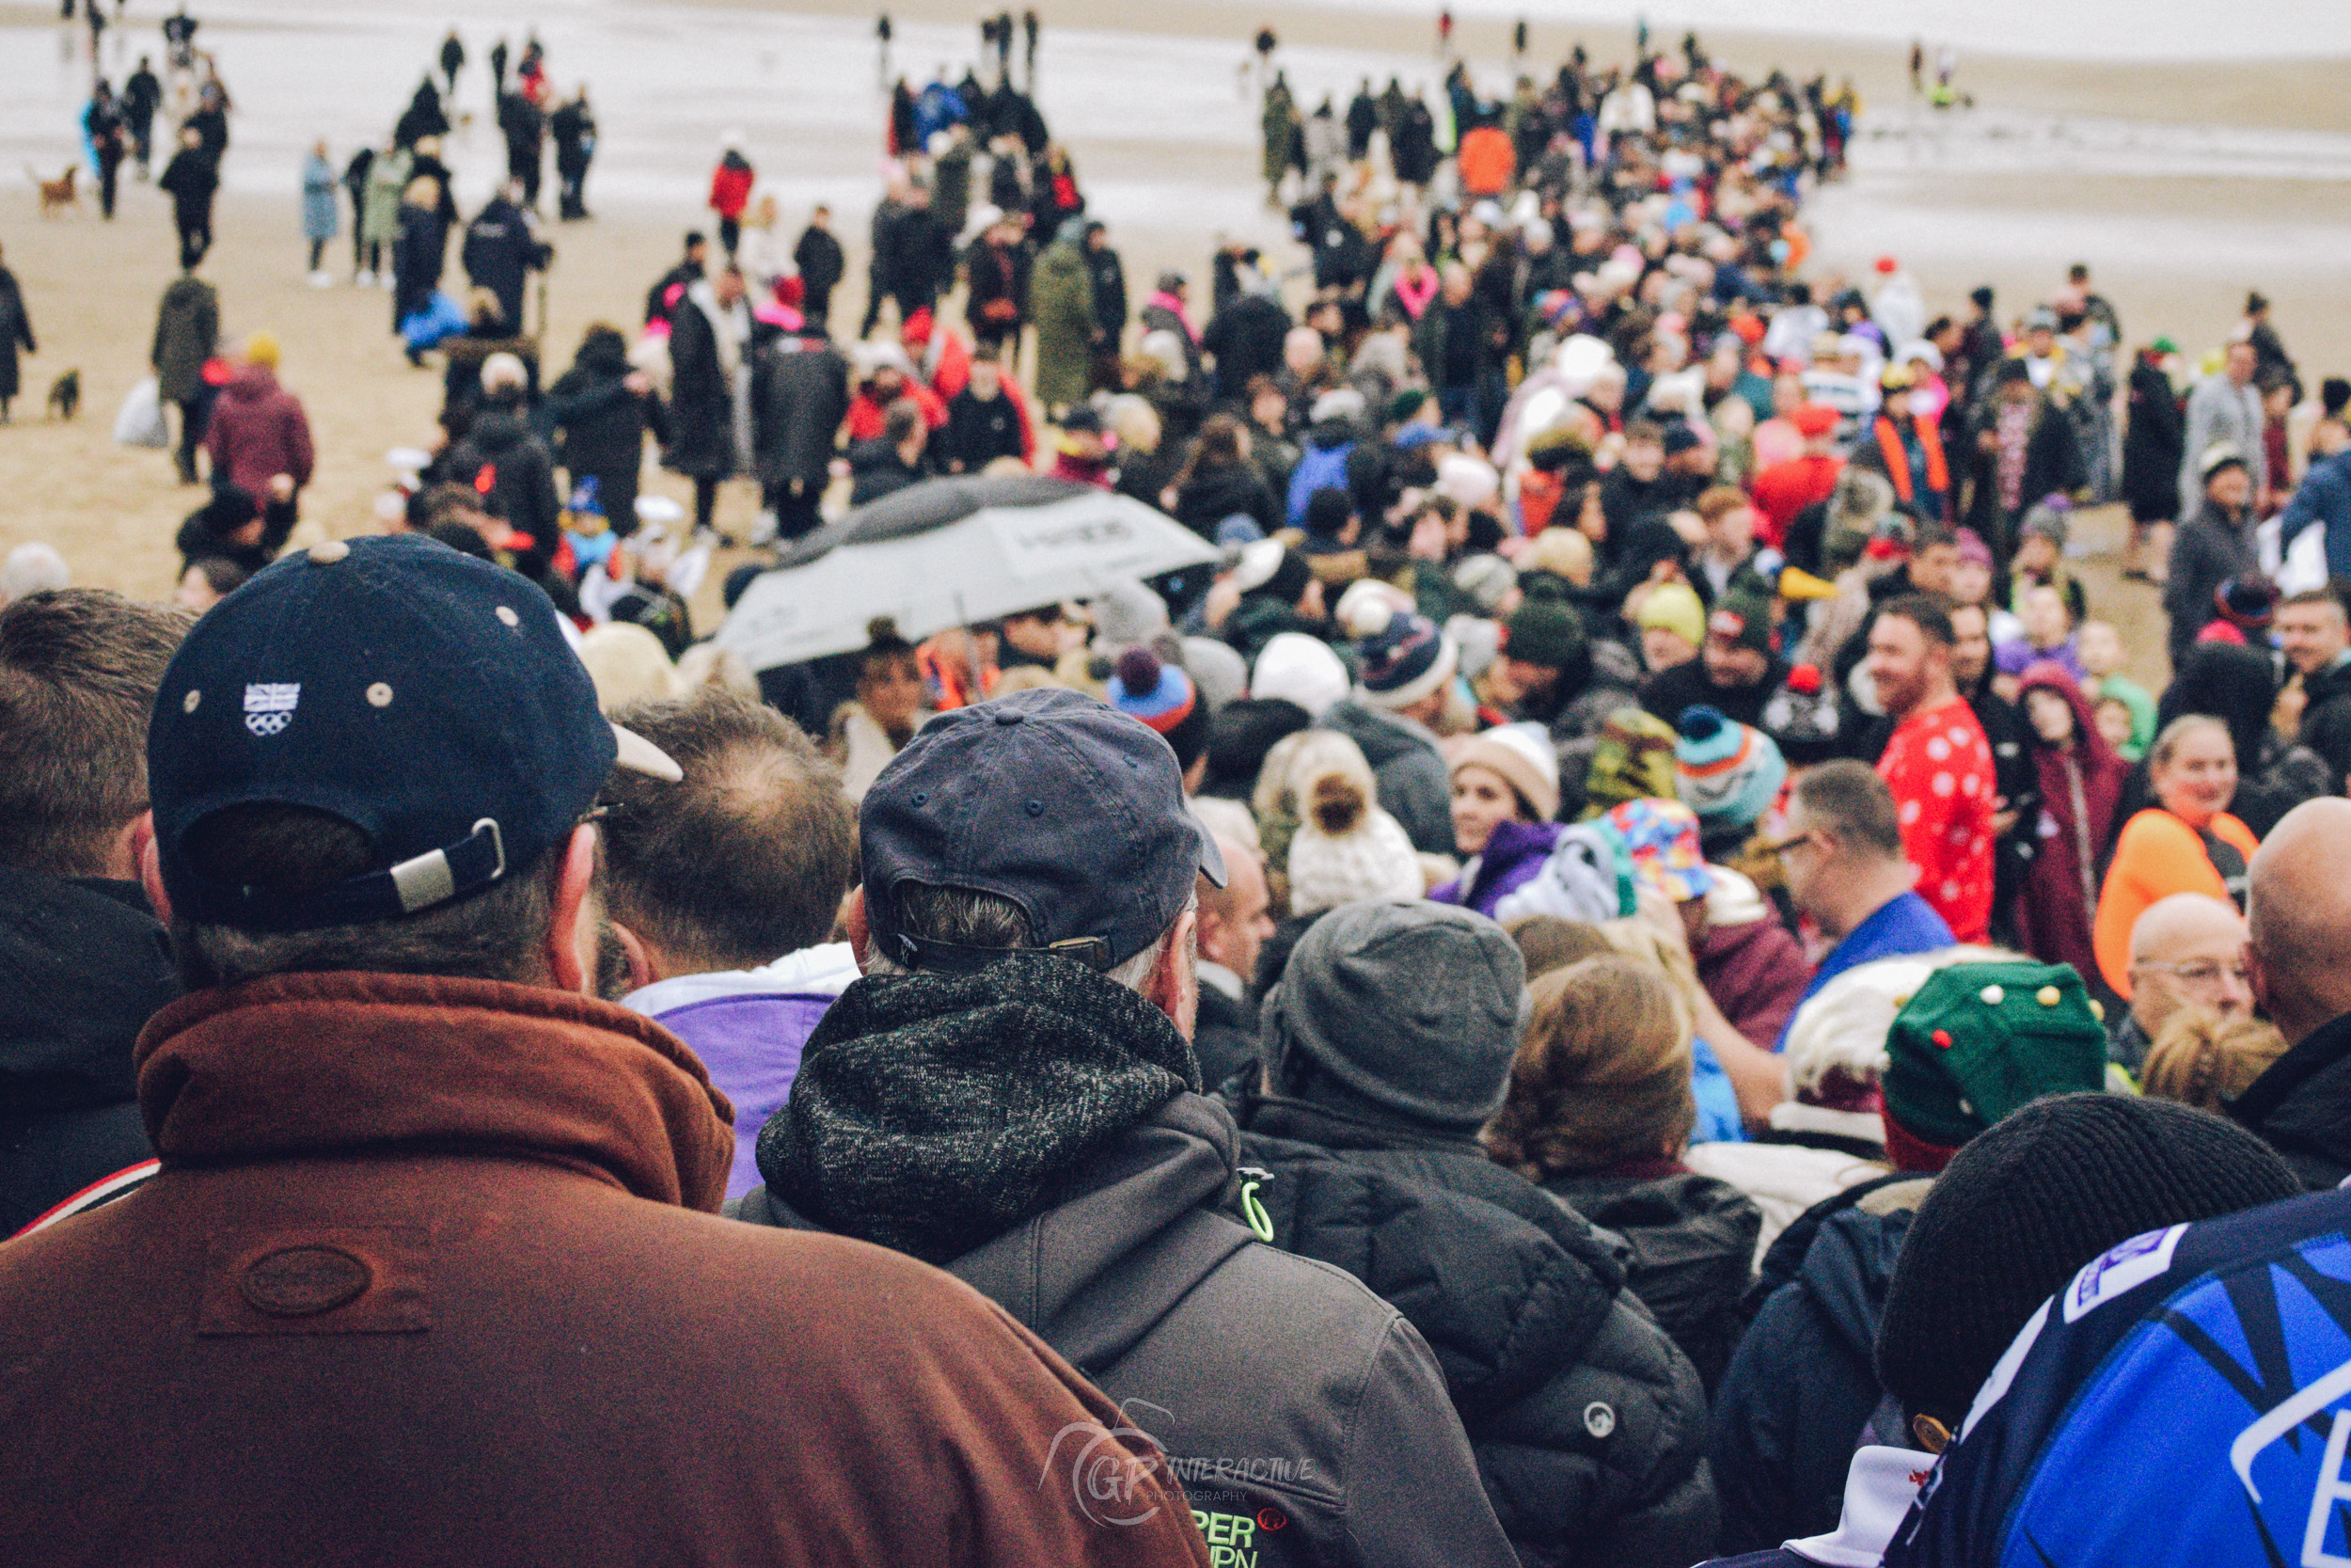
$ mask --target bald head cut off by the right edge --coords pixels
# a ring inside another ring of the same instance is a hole
[[[2311,799],[2271,827],[2245,882],[2252,985],[2288,1044],[2351,1013],[2351,799]]]

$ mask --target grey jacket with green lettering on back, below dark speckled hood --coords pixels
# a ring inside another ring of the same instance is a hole
[[[1512,1568],[1422,1338],[1345,1272],[1218,1213],[1237,1138],[1218,1103],[1180,1093],[947,1272],[1168,1453],[1208,1540],[1255,1554],[1234,1561]],[[726,1211],[816,1229],[766,1187]],[[1063,1448],[1072,1467],[1084,1441]]]

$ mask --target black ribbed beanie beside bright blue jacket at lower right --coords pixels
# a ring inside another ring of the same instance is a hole
[[[2034,1100],[1918,1206],[1878,1319],[1878,1382],[1951,1429],[2034,1309],[2118,1241],[2302,1192],[2269,1145],[2170,1100]]]

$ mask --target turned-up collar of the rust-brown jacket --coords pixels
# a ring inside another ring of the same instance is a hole
[[[299,973],[195,992],[139,1034],[165,1166],[458,1150],[715,1213],[734,1107],[675,1034],[534,985]]]

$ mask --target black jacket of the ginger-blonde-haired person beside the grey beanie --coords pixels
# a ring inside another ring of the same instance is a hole
[[[1695,1171],[1554,1175],[1542,1190],[1632,1244],[1625,1284],[1712,1394],[1747,1328],[1740,1295],[1763,1232],[1754,1199]]]

